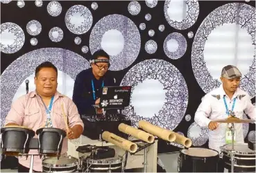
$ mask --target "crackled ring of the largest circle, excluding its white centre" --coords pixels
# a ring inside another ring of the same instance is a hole
[[[211,12],[200,24],[194,37],[191,52],[195,78],[205,93],[212,91],[221,84],[219,80],[212,78],[205,64],[203,50],[207,36],[216,26],[230,23],[239,24],[242,28],[246,28],[255,45],[255,8],[244,3],[228,3]],[[249,72],[244,75],[244,78],[241,78],[240,87],[248,91],[250,96],[255,95],[255,56]]]

